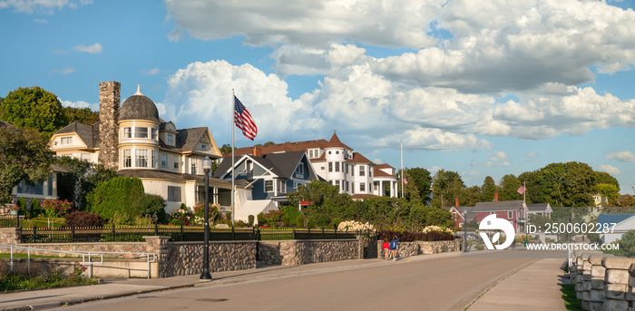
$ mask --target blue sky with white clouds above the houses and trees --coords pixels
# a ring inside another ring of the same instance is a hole
[[[552,162],[635,182],[632,0],[0,0],[0,96],[40,86],[97,109],[141,84],[165,120],[230,143],[231,90],[254,143],[342,141],[466,185]],[[237,135],[236,145],[251,145]]]

